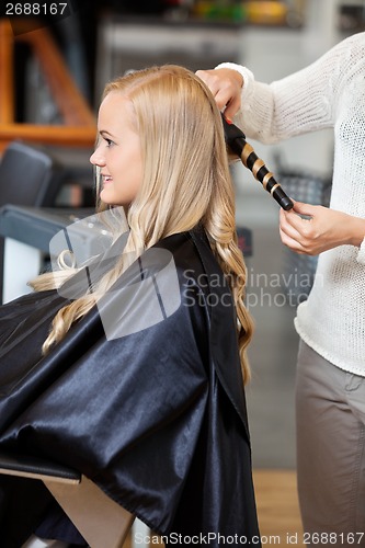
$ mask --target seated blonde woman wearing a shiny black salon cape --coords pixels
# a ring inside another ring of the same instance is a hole
[[[220,113],[195,75],[163,66],[109,83],[98,126],[91,162],[113,244],[94,269],[61,284],[45,274],[1,307],[0,448],[76,468],[167,546],[260,546],[252,322]],[[34,532],[76,543],[36,483],[1,480],[2,546]]]

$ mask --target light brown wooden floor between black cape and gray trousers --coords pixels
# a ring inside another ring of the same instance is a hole
[[[254,470],[253,481],[262,545],[304,548],[295,471]]]

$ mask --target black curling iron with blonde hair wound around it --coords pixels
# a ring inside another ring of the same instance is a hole
[[[267,170],[264,161],[255,155],[251,145],[246,141],[243,132],[231,122],[228,122],[224,115],[221,115],[221,118],[228,148],[242,160],[243,165],[252,172],[253,176],[262,183],[264,190],[270,192],[283,209],[292,209],[294,206],[292,199],[285,194],[280,183],[275,181],[273,173]]]

